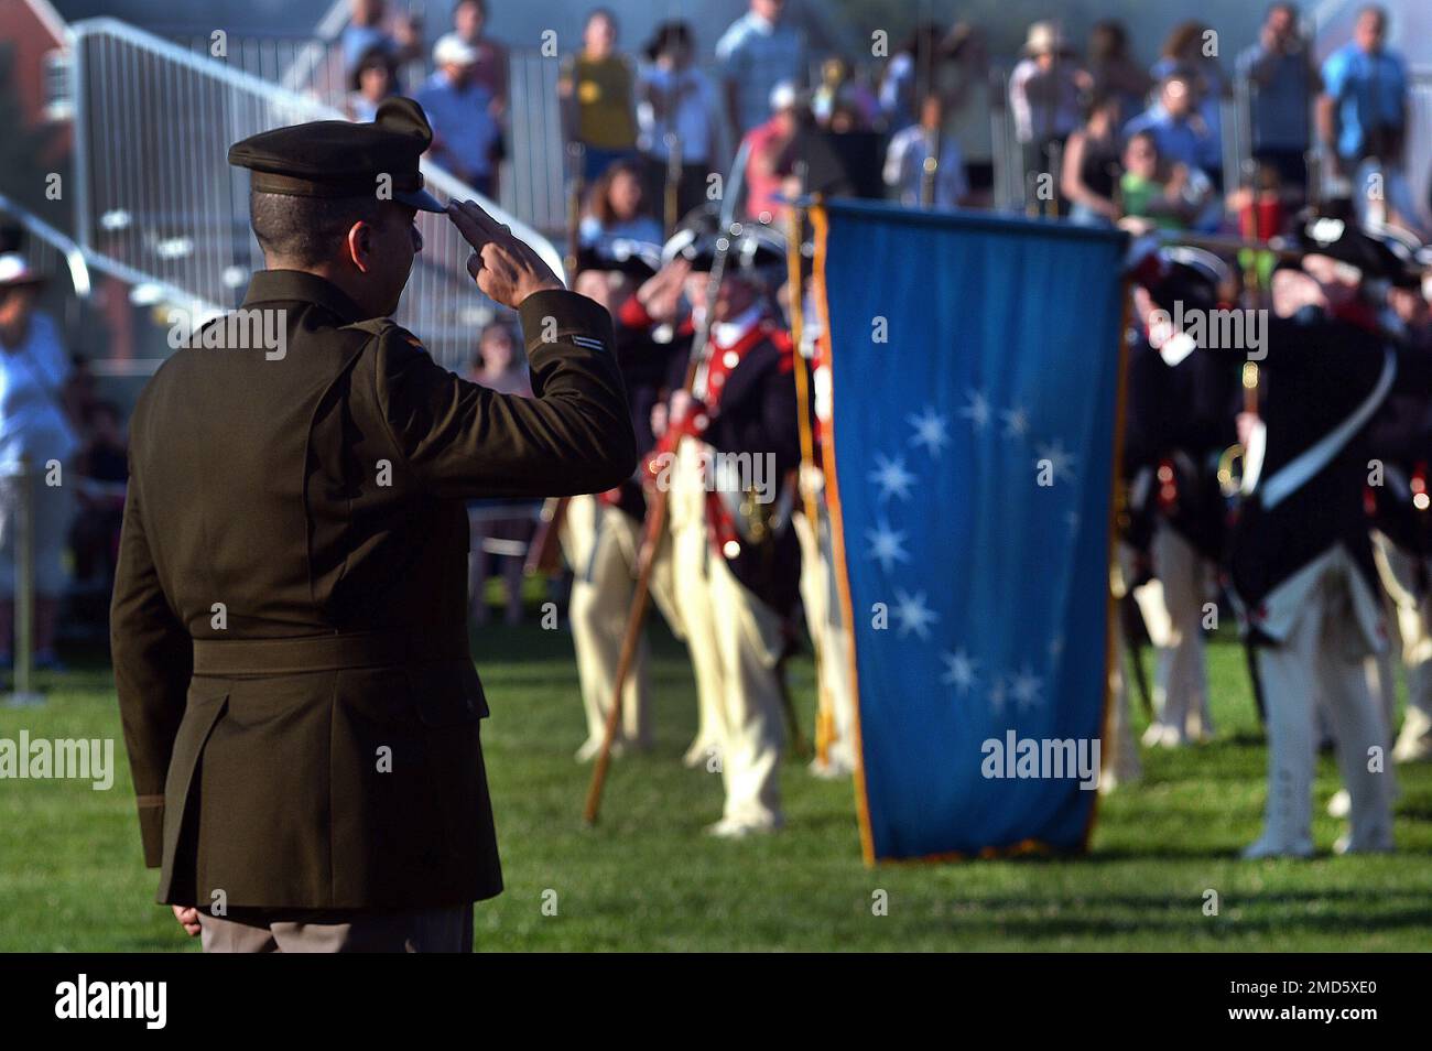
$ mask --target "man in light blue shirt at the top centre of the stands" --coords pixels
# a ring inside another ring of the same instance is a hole
[[[776,84],[806,83],[805,37],[786,21],[785,9],[785,0],[750,0],[750,10],[716,42],[726,119],[737,139],[770,117]]]

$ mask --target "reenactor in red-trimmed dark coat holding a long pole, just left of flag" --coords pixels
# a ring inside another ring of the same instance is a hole
[[[716,245],[693,259],[712,266]],[[673,563],[697,689],[719,703],[722,819],[710,832],[740,838],[783,822],[782,660],[800,573],[790,530],[799,464],[795,361],[770,294],[785,272],[783,242],[748,226],[729,238],[712,305],[709,354],[695,397],[673,395],[666,448]],[[699,279],[693,279],[699,284]],[[706,623],[687,610],[705,609]],[[709,630],[702,647],[697,631]],[[715,660],[695,660],[707,650]]]

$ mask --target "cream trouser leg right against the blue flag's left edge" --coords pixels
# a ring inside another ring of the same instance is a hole
[[[819,666],[821,703],[832,716],[832,735],[826,762],[836,770],[855,769],[855,692],[851,689],[851,650],[841,623],[835,564],[831,560],[831,520],[821,514],[821,544],[802,511],[792,518],[800,541],[800,604],[806,611],[806,630],[815,643]]]

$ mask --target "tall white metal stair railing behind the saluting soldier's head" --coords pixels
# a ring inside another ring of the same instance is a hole
[[[153,282],[166,299],[178,291],[183,299],[172,305],[190,309],[193,322],[236,306],[262,256],[248,226],[248,178],[229,166],[229,145],[344,115],[113,19],[80,21],[70,33],[80,249],[136,284]],[[422,172],[440,199],[481,200],[561,273],[546,238],[437,166],[424,162]],[[497,308],[474,286],[471,249],[453,223],[420,213],[418,229],[424,249],[394,318],[460,369]]]

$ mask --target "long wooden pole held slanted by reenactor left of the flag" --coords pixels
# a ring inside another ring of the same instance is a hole
[[[720,208],[720,235],[716,239],[716,255],[712,259],[710,279],[706,282],[706,309],[696,326],[690,359],[686,364],[683,389],[697,397],[705,394],[705,367],[706,358],[710,354],[712,309],[716,305],[722,275],[726,272],[726,255],[730,251],[732,226],[736,218],[736,199],[740,196],[749,152],[749,146],[742,143],[740,149],[736,150],[732,172],[726,178]],[[676,444],[676,451],[680,451],[680,441]],[[587,803],[581,815],[587,825],[596,825],[597,816],[601,812],[601,792],[607,780],[607,767],[611,765],[611,745],[616,740],[617,727],[621,725],[621,692],[627,676],[632,674],[632,663],[636,660],[637,646],[642,640],[642,624],[646,621],[646,610],[652,599],[652,571],[656,566],[656,553],[660,550],[662,537],[666,530],[667,500],[666,487],[656,485],[646,505],[642,547],[637,553],[636,589],[632,593],[632,609],[627,611],[626,631],[621,636],[621,650],[617,656],[617,670],[611,682],[611,706],[607,709],[601,752],[597,753],[597,762],[591,769],[591,786],[587,789]]]

